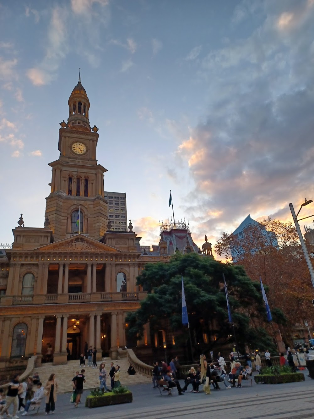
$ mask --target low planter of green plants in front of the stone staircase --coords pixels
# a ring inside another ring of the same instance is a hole
[[[132,393],[126,387],[117,387],[113,391],[103,393],[99,389],[92,390],[86,397],[86,407],[110,406],[112,404],[131,403]]]

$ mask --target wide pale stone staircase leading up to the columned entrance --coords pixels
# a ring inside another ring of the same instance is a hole
[[[110,358],[105,358],[105,360],[101,361],[104,362],[106,365],[107,370],[107,387],[111,388],[110,385],[110,363],[113,362],[113,365],[120,365],[120,372],[121,372],[121,385],[131,385],[131,384],[139,384],[139,383],[152,383],[151,378],[147,378],[142,374],[136,372],[136,375],[129,375],[127,370],[130,366],[130,362],[127,358],[121,360],[111,360]],[[87,362],[85,363],[85,378],[86,383],[84,384],[84,388],[98,388],[100,381],[99,381],[99,366],[100,362],[97,361],[97,368],[93,370],[92,367],[87,366]],[[136,368],[135,368],[136,370]],[[54,373],[56,375],[56,380],[58,383],[58,393],[66,393],[67,391],[72,391],[72,379],[76,375],[76,371],[81,371],[80,369],[80,360],[75,361],[68,361],[66,365],[52,365],[51,362],[47,362],[43,364],[41,367],[35,367],[31,373],[33,375],[34,372],[39,373],[40,380],[43,385],[46,384],[49,375]]]

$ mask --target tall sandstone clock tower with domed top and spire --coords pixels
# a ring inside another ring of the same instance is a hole
[[[52,177],[45,224],[53,231],[54,241],[78,233],[98,240],[108,224],[103,187],[107,170],[97,163],[98,128],[90,127],[90,101],[80,76],[68,104],[69,118],[59,129],[60,156],[49,163]]]

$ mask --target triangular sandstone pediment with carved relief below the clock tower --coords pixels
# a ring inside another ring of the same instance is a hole
[[[64,238],[63,240],[47,244],[46,246],[39,247],[35,250],[39,251],[75,251],[75,252],[114,252],[120,253],[121,251],[108,246],[107,244],[100,243],[84,234],[77,234],[72,237]]]

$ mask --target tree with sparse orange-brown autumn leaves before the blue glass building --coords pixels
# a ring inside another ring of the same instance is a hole
[[[265,233],[265,230],[271,233]],[[311,277],[291,222],[268,217],[256,225],[249,225],[242,236],[223,233],[214,250],[224,256],[226,262],[244,266],[253,281],[262,277],[263,284],[268,287],[270,309],[272,306],[281,308],[288,319],[283,330],[286,336],[291,335],[291,326],[296,323],[314,320]]]

